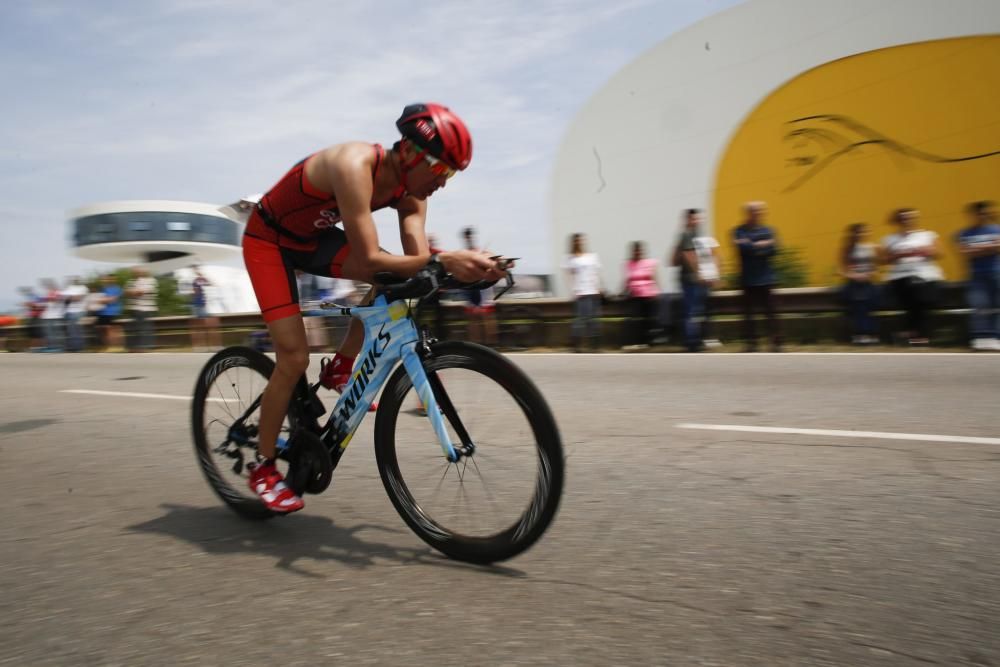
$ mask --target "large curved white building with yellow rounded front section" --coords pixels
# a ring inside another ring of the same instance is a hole
[[[900,207],[920,209],[961,280],[952,237],[979,199],[1000,200],[1000,2],[749,0],[640,56],[574,118],[552,263],[583,232],[618,284],[641,240],[673,289],[684,209],[706,210],[732,270],[742,206],[764,200],[810,284],[838,281],[847,225],[878,240]]]

